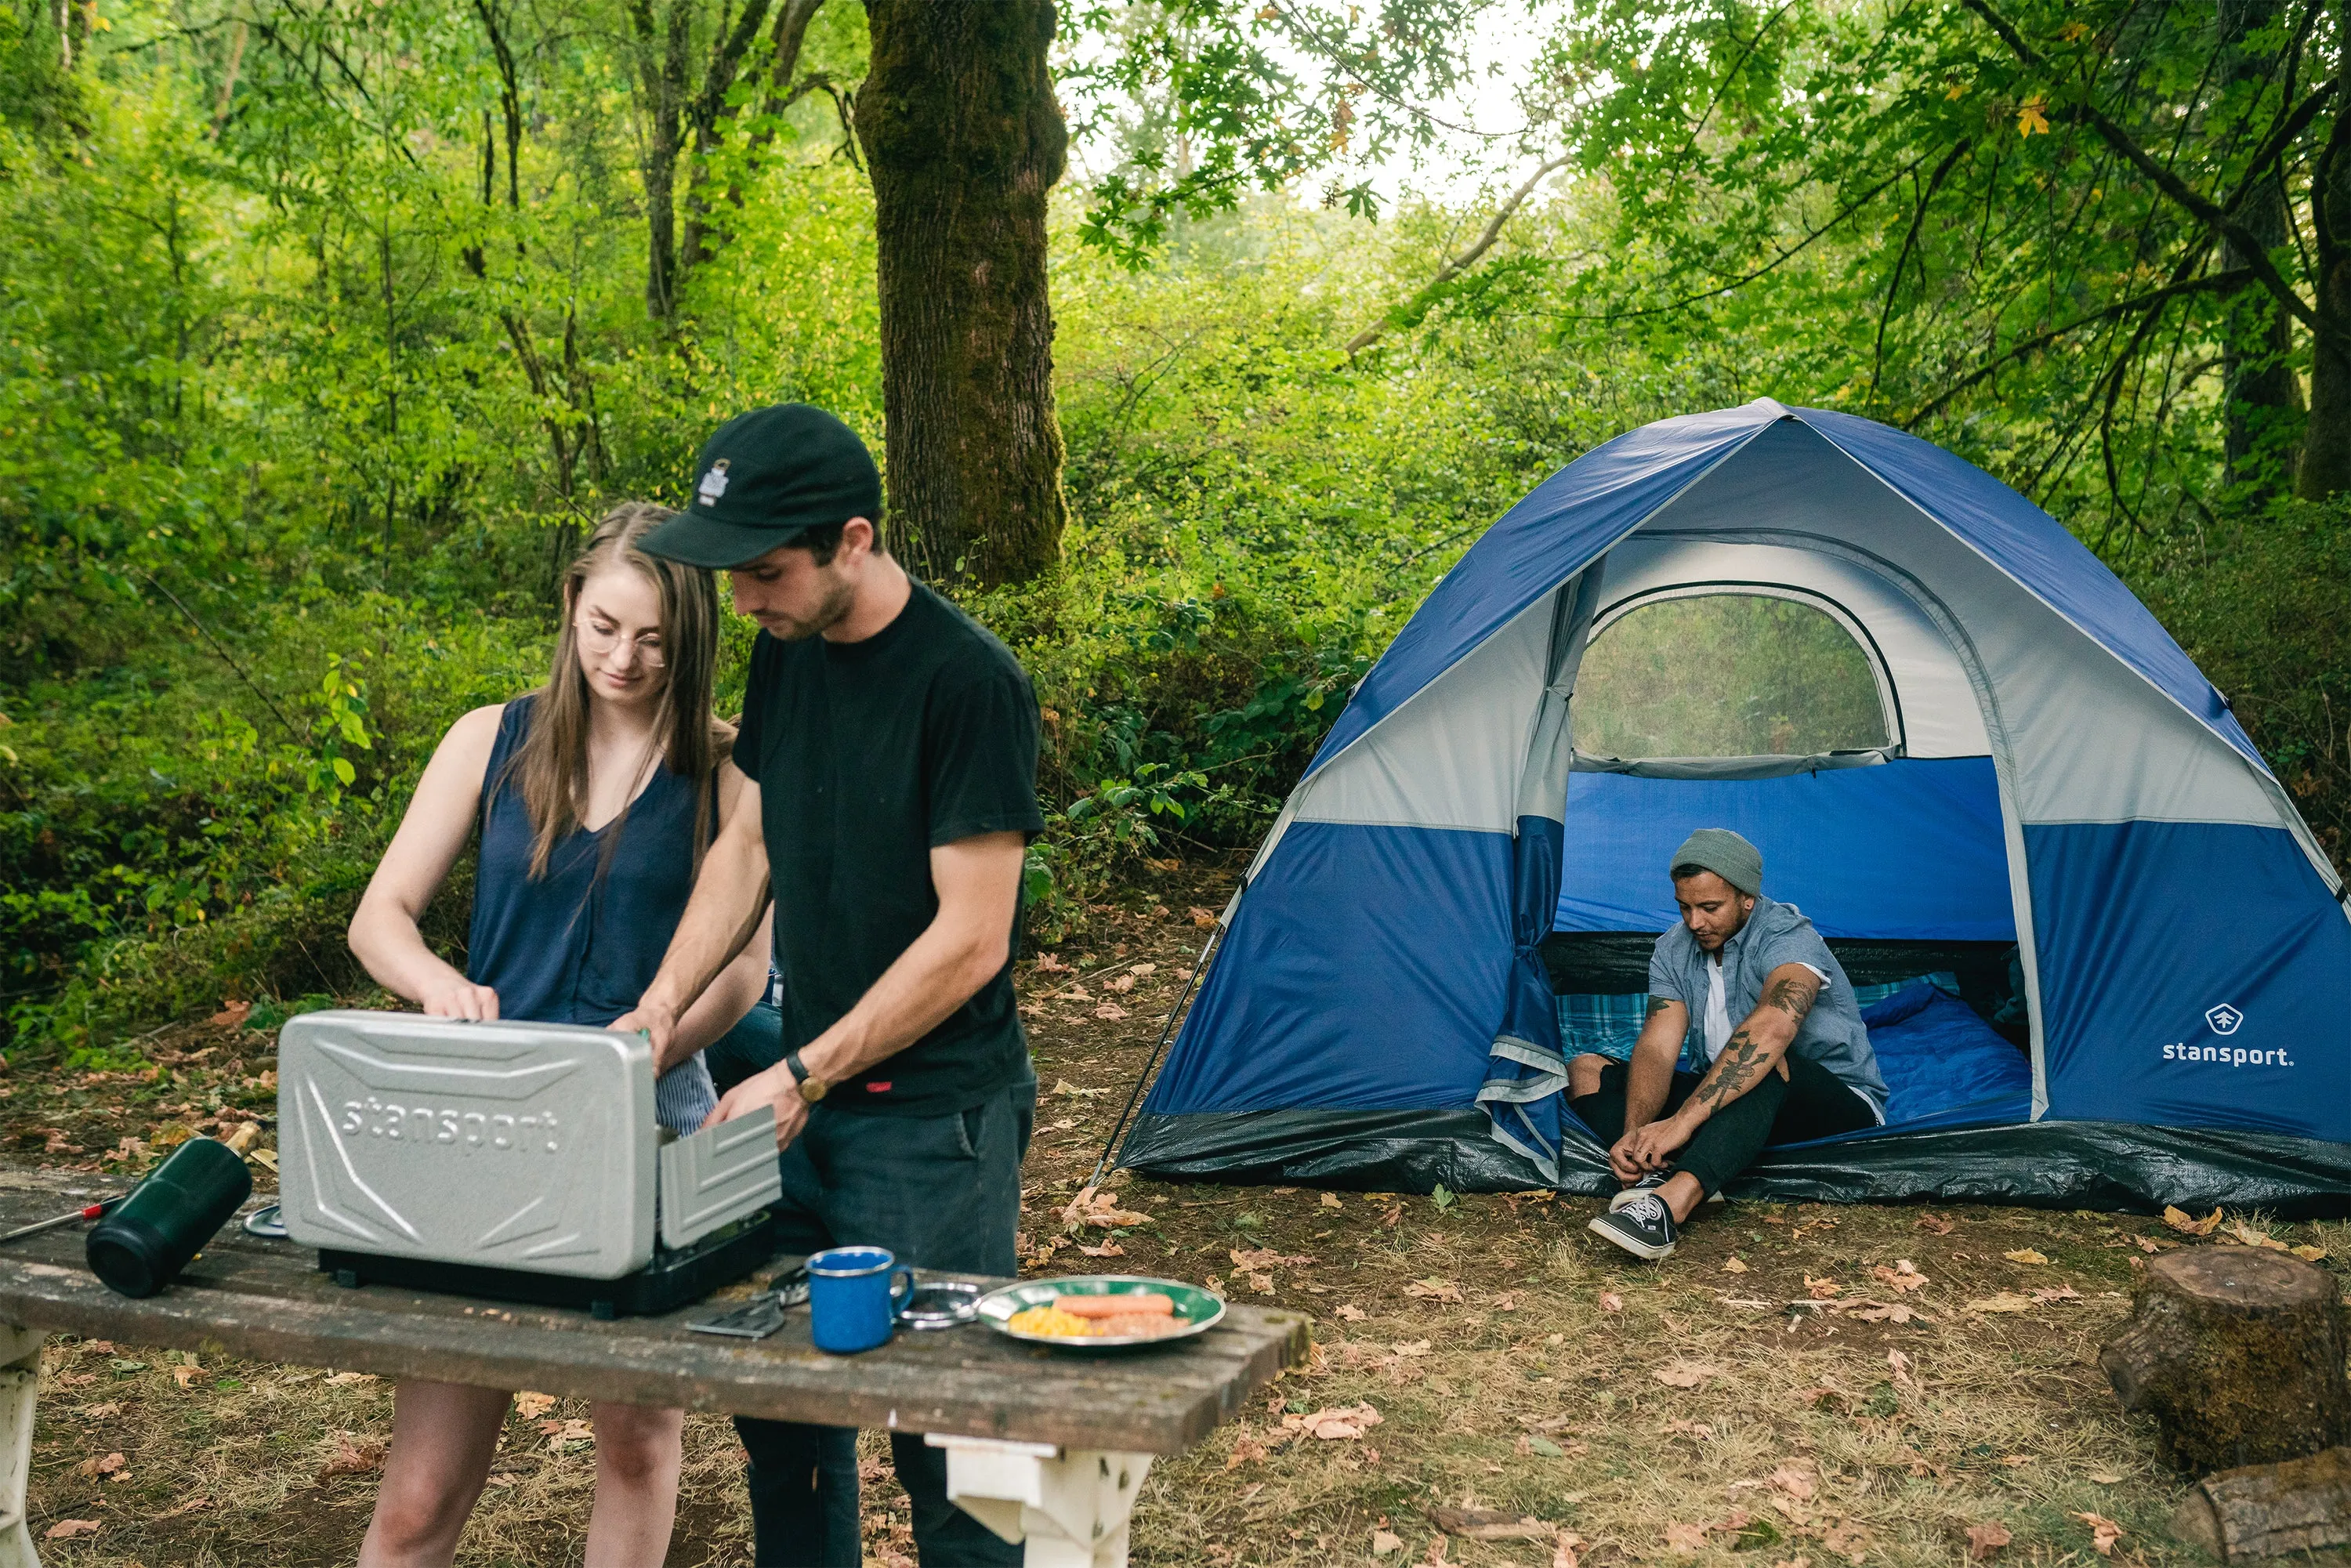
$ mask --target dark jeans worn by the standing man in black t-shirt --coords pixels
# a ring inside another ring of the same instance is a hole
[[[886,1246],[924,1269],[1018,1274],[1020,1159],[1037,1121],[1027,1079],[952,1117],[872,1117],[818,1105],[778,1157],[778,1251]],[[858,1568],[856,1432],[736,1418],[750,1453],[752,1561]],[[922,1568],[1016,1568],[1020,1547],[947,1502],[947,1453],[891,1436],[915,1502]],[[846,1469],[846,1486],[839,1483]]]

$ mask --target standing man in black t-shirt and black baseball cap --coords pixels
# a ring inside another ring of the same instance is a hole
[[[870,1244],[900,1265],[1018,1274],[1037,1077],[1011,952],[1025,846],[1044,830],[1037,693],[1002,642],[882,550],[879,515],[856,433],[783,404],[712,435],[694,503],[644,536],[651,555],[729,569],[762,635],[734,745],[748,783],[661,976],[611,1027],[649,1030],[656,1072],[675,1065],[677,1018],[757,931],[773,886],[783,1060],[726,1091],[712,1119],[776,1110],[783,1246]],[[736,1429],[757,1563],[856,1568],[856,1434]],[[945,1450],[915,1434],[891,1453],[926,1568],[1020,1561],[947,1502]]]

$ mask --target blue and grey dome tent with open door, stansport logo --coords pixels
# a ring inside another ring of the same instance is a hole
[[[1860,741],[1756,698],[1740,733],[1777,738],[1742,755],[1580,745],[1587,651],[1695,599],[1834,625],[1867,670]],[[1561,1018],[1643,990],[1665,856],[1700,825],[1763,849],[1857,985],[1935,971],[1975,1004],[1911,987],[1874,1013],[1888,1126],[1768,1150],[1744,1192],[2351,1206],[2344,884],[2226,698],[2005,484],[1770,400],[1589,451],[1436,585],[1227,905],[1119,1161],[1608,1187]],[[1972,1034],[1893,1048],[1933,1020]]]

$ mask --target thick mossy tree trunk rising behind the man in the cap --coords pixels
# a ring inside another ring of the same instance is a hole
[[[1049,0],[865,0],[891,548],[933,583],[1060,557],[1046,193],[1067,127]]]

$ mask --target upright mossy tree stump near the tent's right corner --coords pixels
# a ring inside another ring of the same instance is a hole
[[[2125,1410],[2156,1418],[2163,1460],[2205,1474],[2351,1443],[2344,1349],[2332,1274],[2266,1248],[2198,1246],[2146,1265],[2130,1324],[2097,1363]]]

